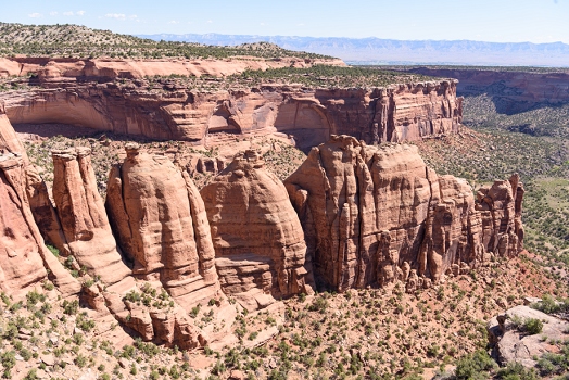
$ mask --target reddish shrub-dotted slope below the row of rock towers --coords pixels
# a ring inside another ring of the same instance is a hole
[[[46,282],[26,302],[2,293],[1,360],[4,376],[16,379],[448,376],[458,358],[486,346],[492,316],[527,296],[567,296],[559,275],[541,265],[539,256],[523,253],[414,294],[399,287],[301,294],[270,309],[241,312],[232,327],[240,337],[235,349],[189,354],[134,339],[114,318],[61,300]],[[216,307],[198,308],[192,317],[210,324]],[[263,335],[273,338],[255,346]]]

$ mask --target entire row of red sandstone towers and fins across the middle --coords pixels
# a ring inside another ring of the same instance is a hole
[[[34,208],[30,189],[45,183],[26,173],[33,166],[16,152],[10,123],[0,127],[0,288],[18,292],[49,278],[63,294],[79,292],[43,243],[40,230],[56,227],[43,233],[62,239],[73,269],[94,279],[81,297],[146,341],[235,342],[239,307],[269,307],[316,283],[342,292],[402,282],[414,292],[522,250],[517,175],[475,194],[466,180],[438,176],[412,145],[332,135],[284,183],[250,150],[199,192],[166,156],[127,144],[105,207],[89,150],[54,151],[56,207],[41,190],[43,208]],[[199,327],[194,311],[213,303],[212,324]]]

